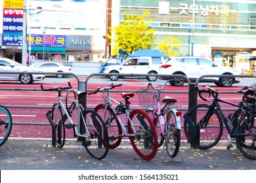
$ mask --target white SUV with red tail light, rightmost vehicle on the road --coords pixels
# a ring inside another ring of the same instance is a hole
[[[201,57],[171,57],[165,59],[160,65],[160,74],[163,75],[184,75],[191,82],[195,82],[203,75],[239,75],[238,71],[230,67],[216,65],[213,61]],[[175,77],[176,78],[176,77]],[[171,79],[171,76],[161,77],[163,80]],[[176,78],[179,82],[171,82],[173,86],[182,86],[185,82],[184,78]],[[214,82],[217,86],[229,87],[234,83],[239,83],[240,78],[234,77],[211,77],[202,78],[200,82]]]

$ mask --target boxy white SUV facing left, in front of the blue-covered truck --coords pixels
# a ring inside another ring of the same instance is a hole
[[[120,74],[158,74],[159,65],[163,58],[138,57],[128,58],[121,65],[106,66],[104,73]],[[110,80],[118,80],[119,76],[111,75]],[[157,76],[147,76],[149,81],[157,80]]]

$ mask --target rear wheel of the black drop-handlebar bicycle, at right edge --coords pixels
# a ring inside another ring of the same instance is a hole
[[[236,125],[236,145],[240,152],[249,159],[256,160],[256,126],[255,126],[254,110],[253,118],[248,115],[243,115]]]

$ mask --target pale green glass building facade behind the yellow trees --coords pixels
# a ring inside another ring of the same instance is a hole
[[[175,37],[181,41],[180,56],[203,56],[245,69],[251,61],[234,56],[243,52],[256,56],[255,0],[120,0],[112,6],[119,7],[120,20],[126,13],[148,10],[156,28],[156,49],[164,37]]]

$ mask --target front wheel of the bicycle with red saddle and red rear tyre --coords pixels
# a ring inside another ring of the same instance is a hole
[[[95,107],[95,112],[97,112],[102,120],[104,121],[108,129],[108,138],[110,140],[109,147],[117,148],[121,143],[122,129],[119,124],[114,111],[108,106],[105,112],[106,105],[100,104]]]

